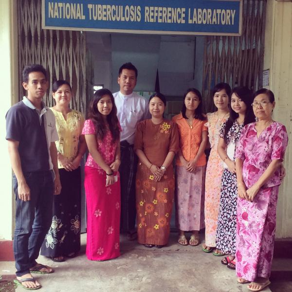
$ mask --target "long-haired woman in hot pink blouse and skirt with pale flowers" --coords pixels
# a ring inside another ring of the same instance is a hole
[[[120,131],[112,93],[94,93],[82,134],[89,149],[85,164],[86,255],[90,260],[120,256]]]

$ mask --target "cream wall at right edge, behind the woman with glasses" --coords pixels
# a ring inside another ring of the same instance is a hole
[[[277,206],[277,238],[292,237],[292,2],[267,1],[264,70],[270,69],[275,95],[274,120],[289,134],[286,150],[286,178],[281,184]]]

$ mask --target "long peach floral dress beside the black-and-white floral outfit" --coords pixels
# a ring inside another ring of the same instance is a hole
[[[219,131],[226,118],[218,118],[217,112],[207,113],[209,142],[211,152],[206,169],[205,180],[205,244],[216,247],[216,230],[219,213],[220,187],[223,173],[223,162],[217,152]]]

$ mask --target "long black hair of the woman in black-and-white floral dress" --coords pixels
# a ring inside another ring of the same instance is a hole
[[[234,121],[238,118],[239,114],[232,110],[231,108],[231,96],[235,94],[238,98],[240,98],[246,105],[246,111],[244,115],[243,125],[250,124],[255,122],[255,115],[252,109],[252,102],[253,102],[253,92],[248,89],[247,87],[235,87],[231,94],[229,95],[229,118],[226,122],[225,132],[224,132],[224,141],[227,144],[227,133],[231,126],[233,125]]]

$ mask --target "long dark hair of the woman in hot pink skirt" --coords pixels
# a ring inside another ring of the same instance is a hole
[[[110,132],[112,134],[112,142],[114,143],[120,137],[120,129],[119,129],[119,121],[117,118],[117,108],[114,103],[114,98],[112,93],[106,89],[99,89],[95,91],[93,95],[93,99],[91,101],[88,117],[91,119],[95,126],[96,137],[97,140],[101,141],[107,134],[107,125],[103,118],[103,115],[97,109],[97,103],[101,100],[101,98],[105,95],[109,95],[112,103],[112,109],[109,115],[107,115],[107,122],[109,124]]]

